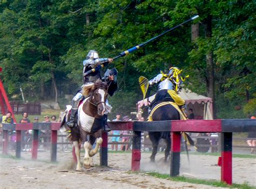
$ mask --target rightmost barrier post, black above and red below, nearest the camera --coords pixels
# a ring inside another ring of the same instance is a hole
[[[221,181],[232,184],[232,132],[221,134]]]

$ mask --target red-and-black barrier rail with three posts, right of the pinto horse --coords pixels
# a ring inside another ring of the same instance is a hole
[[[122,122],[110,122],[111,129],[125,129]],[[131,125],[129,125],[129,130]],[[171,134],[171,170],[170,176],[179,175],[180,138],[184,132],[219,132],[221,134],[221,181],[232,184],[232,133],[256,132],[255,119],[222,119],[222,120],[168,120],[160,122],[133,122],[132,171],[139,171],[140,133],[143,131],[170,131]]]

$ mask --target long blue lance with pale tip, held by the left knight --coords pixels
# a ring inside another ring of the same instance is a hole
[[[142,43],[142,44],[133,46],[133,48],[131,48],[131,49],[128,49],[128,50],[126,50],[126,51],[121,52],[118,56],[114,57],[113,60],[116,60],[116,59],[118,59],[118,58],[120,58],[120,57],[124,57],[124,56],[126,56],[126,55],[129,55],[129,53],[131,53],[131,52],[133,52],[133,51],[136,51],[136,50],[138,50],[139,48],[142,48],[142,47],[145,46],[147,43],[152,42],[152,40],[155,40],[155,39],[157,39],[157,38],[159,38],[159,37],[165,35],[166,33],[168,33],[168,32],[170,32],[170,31],[173,31],[173,30],[179,28],[181,25],[184,25],[184,24],[186,24],[186,23],[188,23],[188,22],[193,21],[194,19],[196,19],[196,18],[198,18],[198,17],[199,17],[199,15],[193,16],[193,17],[191,17],[190,19],[184,21],[183,23],[181,23],[181,24],[179,24],[179,25],[177,25],[177,26],[174,26],[173,28],[171,28],[171,29],[169,29],[169,30],[167,30],[167,31],[165,31],[165,32],[163,32],[163,33],[161,33],[160,35],[158,35],[158,36],[156,36],[156,37],[153,37],[153,38],[147,40],[146,42],[144,42],[144,43]],[[98,65],[96,68],[91,69],[91,70],[85,72],[85,73],[84,73],[84,76],[87,76],[87,75],[89,75],[89,74],[92,73],[92,72],[95,72],[95,71],[97,71],[97,70],[100,70],[100,69],[102,69],[103,67],[104,67],[103,64],[102,64],[102,65]]]

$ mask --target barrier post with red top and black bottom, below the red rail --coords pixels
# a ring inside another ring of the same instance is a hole
[[[180,166],[180,132],[171,133],[171,170],[170,176],[179,176],[179,166]]]

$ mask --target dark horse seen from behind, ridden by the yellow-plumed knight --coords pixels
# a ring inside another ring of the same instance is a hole
[[[157,103],[154,107],[156,107],[160,103],[163,103],[163,102]],[[153,121],[179,120],[180,119],[179,112],[171,104],[166,103],[165,105],[159,106],[156,110],[154,110],[154,108],[152,108],[152,111],[153,111],[153,113],[151,114],[151,116],[152,116]],[[149,132],[149,138],[152,142],[152,147],[153,147],[152,154],[150,156],[150,161],[151,162],[155,161],[159,141],[160,141],[160,139],[163,138],[166,143],[165,158],[164,158],[164,161],[166,162],[169,157],[170,150],[171,150],[171,134],[170,134],[170,132]]]

